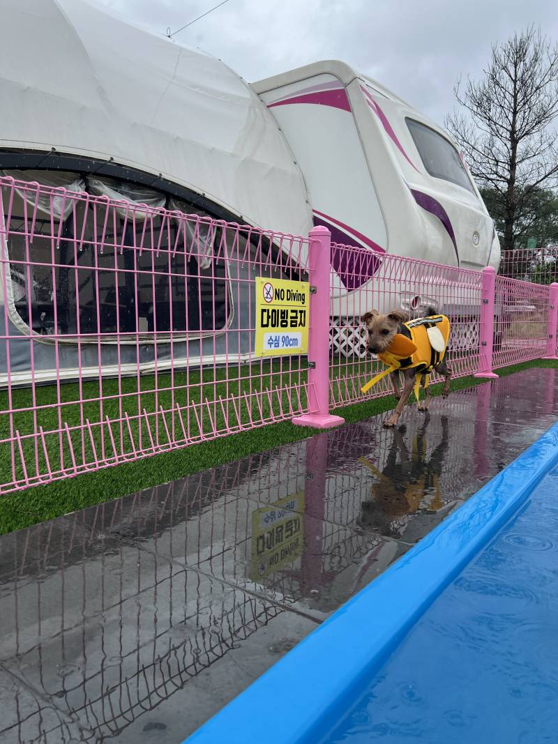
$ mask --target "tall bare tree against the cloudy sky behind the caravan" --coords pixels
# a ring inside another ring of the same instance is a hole
[[[552,129],[558,114],[558,46],[530,27],[494,45],[484,77],[458,80],[454,89],[466,112],[446,117],[472,175],[493,190],[504,216],[504,250],[525,225],[530,199],[558,181],[558,148]]]

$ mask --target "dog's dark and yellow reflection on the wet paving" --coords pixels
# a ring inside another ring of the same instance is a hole
[[[388,452],[384,469],[380,472],[366,458],[359,461],[377,476],[378,481],[372,486],[372,498],[363,501],[357,525],[366,530],[378,530],[385,536],[394,536],[392,522],[405,514],[412,514],[421,504],[433,511],[443,506],[440,490],[440,475],[443,458],[448,448],[448,420],[442,417],[442,441],[426,460],[426,426],[429,423],[427,414],[412,444],[412,453],[408,451],[400,429],[394,431],[394,438]],[[400,453],[400,462],[397,454]]]

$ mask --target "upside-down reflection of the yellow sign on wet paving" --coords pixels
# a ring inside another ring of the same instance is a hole
[[[252,513],[250,579],[260,582],[302,555],[304,492]]]

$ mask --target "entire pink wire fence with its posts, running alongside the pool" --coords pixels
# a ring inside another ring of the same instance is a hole
[[[340,423],[330,408],[391,393],[360,391],[379,368],[368,310],[449,315],[453,376],[556,356],[558,285],[7,177],[0,199],[0,493],[279,420]],[[310,281],[308,358],[254,356],[258,277]]]

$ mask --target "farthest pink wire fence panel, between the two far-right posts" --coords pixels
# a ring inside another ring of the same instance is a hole
[[[550,290],[548,285],[496,277],[493,368],[545,356]]]

